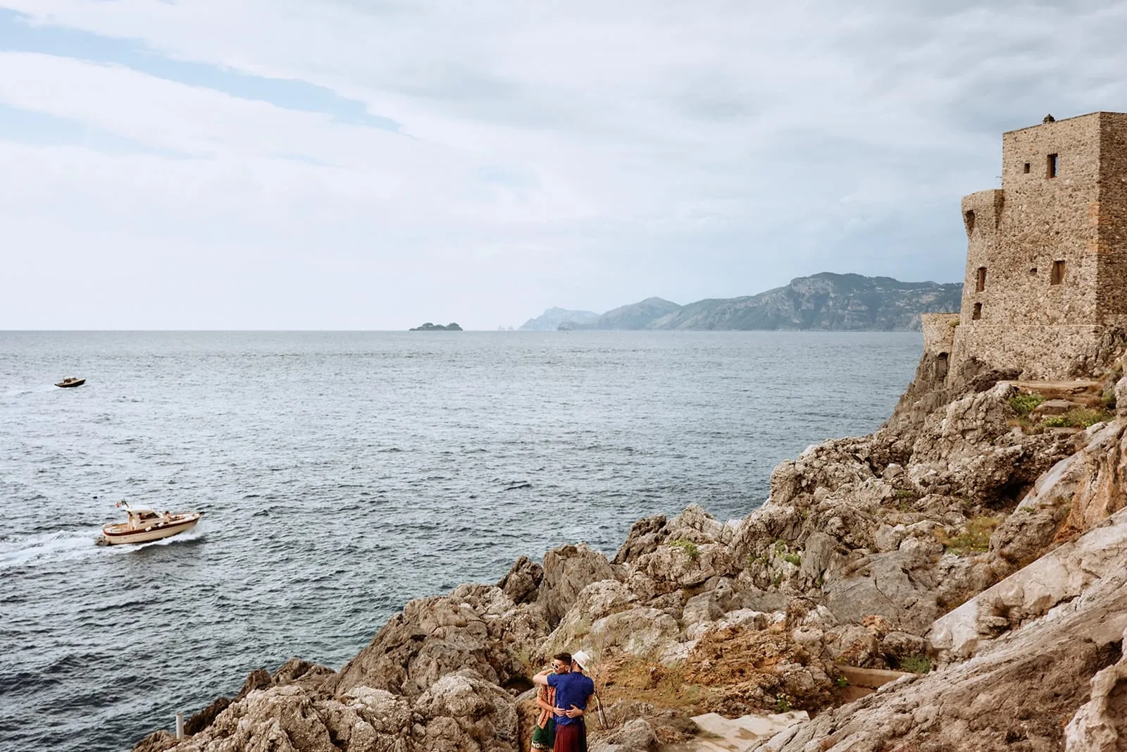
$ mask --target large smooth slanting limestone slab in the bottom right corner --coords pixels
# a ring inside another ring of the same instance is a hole
[[[921,678],[903,678],[751,749],[1061,749],[1066,723],[1089,699],[1091,678],[1120,660],[1122,629],[1127,627],[1125,585],[1127,573],[1116,569],[1061,607],[1063,610],[1055,617],[1038,619],[1009,634],[973,661]],[[1106,679],[1103,682],[1110,683]]]

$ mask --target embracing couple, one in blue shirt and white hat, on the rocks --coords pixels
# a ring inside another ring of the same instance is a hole
[[[540,685],[536,693],[540,716],[532,729],[532,749],[586,752],[587,725],[583,716],[595,695],[595,682],[584,673],[589,662],[583,651],[574,656],[558,653],[551,669],[532,678]]]

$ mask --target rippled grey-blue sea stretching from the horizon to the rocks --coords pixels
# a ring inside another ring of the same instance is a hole
[[[121,751],[415,598],[876,430],[916,333],[0,331],[0,750]],[[76,389],[53,386],[86,378]],[[192,533],[95,546],[119,499]]]

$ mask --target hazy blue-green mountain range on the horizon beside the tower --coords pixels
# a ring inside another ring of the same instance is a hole
[[[699,300],[687,306],[647,298],[602,316],[551,308],[529,319],[521,329],[919,331],[921,313],[957,311],[961,299],[959,282],[900,282],[823,272],[757,295]]]

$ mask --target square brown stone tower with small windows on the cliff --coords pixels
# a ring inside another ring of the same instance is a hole
[[[1004,133],[1002,187],[965,196],[962,222],[958,326],[928,317],[925,348],[944,370],[949,356],[1027,379],[1089,374],[1101,339],[1127,328],[1127,114]]]

